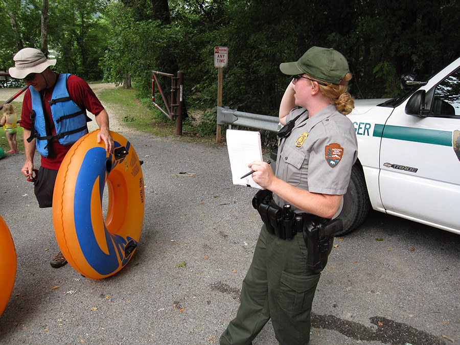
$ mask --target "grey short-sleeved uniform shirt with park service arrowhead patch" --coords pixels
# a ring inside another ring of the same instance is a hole
[[[287,123],[304,112],[291,134],[280,139],[275,175],[312,193],[343,195],[358,154],[353,123],[335,105],[321,109],[311,119],[305,110],[294,108],[286,117]],[[273,199],[280,207],[287,204],[276,194]]]

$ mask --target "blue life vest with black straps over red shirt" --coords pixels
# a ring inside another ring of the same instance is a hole
[[[30,143],[34,138],[38,152],[47,157],[48,144],[52,139],[58,139],[61,145],[72,145],[83,135],[88,133],[86,122],[91,121],[86,116],[86,109],[82,110],[71,99],[67,90],[67,77],[70,74],[61,74],[51,96],[50,107],[56,134],[47,133],[45,126],[44,105],[41,103],[40,93],[29,86],[32,98],[31,121],[35,132],[27,139]]]

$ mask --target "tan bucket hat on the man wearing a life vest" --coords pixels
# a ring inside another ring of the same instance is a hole
[[[56,64],[56,59],[47,59],[41,51],[35,48],[21,49],[13,60],[14,67],[10,67],[8,72],[16,79],[23,79],[31,73],[41,73],[49,66]]]

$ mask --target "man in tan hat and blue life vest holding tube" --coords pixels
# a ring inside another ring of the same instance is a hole
[[[22,101],[21,121],[24,128],[26,163],[21,172],[34,179],[34,155],[41,155],[41,164],[34,182],[34,192],[40,208],[52,206],[54,183],[59,166],[67,151],[80,137],[88,133],[86,110],[95,115],[100,132],[97,142],[113,150],[108,114],[89,85],[81,78],[51,70],[56,59],[47,59],[38,49],[24,48],[16,53],[9,74],[24,79],[29,88]],[[54,268],[67,263],[62,253],[51,260]]]

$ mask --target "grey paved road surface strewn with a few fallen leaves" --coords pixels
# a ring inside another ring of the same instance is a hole
[[[223,144],[129,130],[104,106],[111,129],[144,161],[140,245],[106,279],[53,269],[51,210],[38,208],[20,173],[24,152],[0,159],[0,214],[18,264],[0,343],[218,343],[236,315],[261,225],[250,205],[255,191],[232,185]],[[460,236],[372,212],[334,244],[313,302],[311,345],[460,342]],[[254,341],[277,343],[270,323]]]

